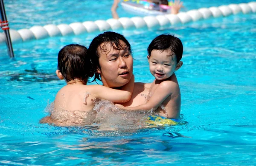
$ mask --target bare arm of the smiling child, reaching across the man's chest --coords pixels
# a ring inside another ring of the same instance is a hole
[[[163,101],[172,94],[171,85],[173,82],[162,82],[154,92],[154,95],[148,100],[146,104],[137,107],[125,107],[126,110],[150,110],[159,107]]]

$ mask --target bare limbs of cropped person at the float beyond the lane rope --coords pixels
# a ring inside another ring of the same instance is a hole
[[[116,8],[118,8],[118,4],[119,4],[120,0],[114,0],[113,1],[113,5],[111,7],[111,13],[112,13],[112,17],[114,19],[119,19],[119,16],[116,12]],[[149,3],[155,3],[157,5],[168,5],[169,2],[168,0],[148,0]],[[171,8],[171,14],[178,14],[180,11],[180,8],[183,7],[183,2],[181,2],[180,0],[175,0],[174,3],[172,3],[172,8]]]

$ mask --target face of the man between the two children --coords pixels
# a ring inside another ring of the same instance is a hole
[[[97,73],[100,74],[102,83],[106,87],[122,87],[127,84],[133,73],[133,58],[128,51],[125,42],[120,40],[124,49],[116,50],[110,43],[101,44],[99,47],[99,66]],[[100,50],[100,48],[104,49]]]

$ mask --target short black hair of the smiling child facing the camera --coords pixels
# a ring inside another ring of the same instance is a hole
[[[170,50],[171,55],[175,53],[177,63],[180,62],[183,54],[183,45],[179,38],[171,34],[161,34],[154,38],[148,45],[148,56],[151,56],[153,50]]]

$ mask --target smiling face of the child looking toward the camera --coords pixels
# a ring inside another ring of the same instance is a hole
[[[175,53],[171,54],[170,50],[153,50],[151,56],[148,56],[150,73],[157,80],[168,79],[175,70],[178,70],[182,62],[176,63]]]

